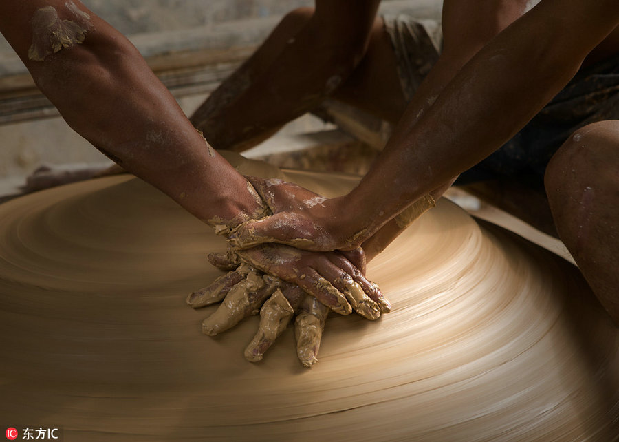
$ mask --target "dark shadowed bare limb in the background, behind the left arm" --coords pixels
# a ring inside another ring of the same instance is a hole
[[[288,14],[197,109],[192,123],[215,148],[241,151],[313,109],[362,58],[378,3],[316,0],[313,13]]]

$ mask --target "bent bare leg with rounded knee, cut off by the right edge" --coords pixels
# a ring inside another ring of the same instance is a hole
[[[619,325],[619,120],[583,127],[546,169],[558,234]]]

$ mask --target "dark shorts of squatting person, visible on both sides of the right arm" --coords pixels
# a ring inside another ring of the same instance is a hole
[[[429,21],[384,17],[402,91],[410,99],[438,57],[440,33]],[[433,52],[434,51],[434,52]],[[619,119],[619,54],[576,74],[518,134],[474,167],[457,185],[510,179],[543,191],[546,165],[574,131],[602,120]]]

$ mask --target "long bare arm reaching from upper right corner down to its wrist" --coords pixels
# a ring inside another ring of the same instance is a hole
[[[501,146],[561,90],[616,25],[616,18],[602,14],[588,25],[574,12],[551,20],[552,8],[561,6],[547,1],[499,34],[418,121],[411,114],[416,109],[407,109],[374,167],[342,201],[342,216],[355,215],[345,221],[351,232],[367,229],[371,235],[384,218]],[[381,212],[384,217],[377,219]]]

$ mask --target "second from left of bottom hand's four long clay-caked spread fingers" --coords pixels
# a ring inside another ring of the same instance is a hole
[[[252,269],[243,281],[230,289],[215,313],[202,321],[202,333],[215,336],[258,313],[262,303],[278,286],[278,281],[268,275],[262,277]]]

